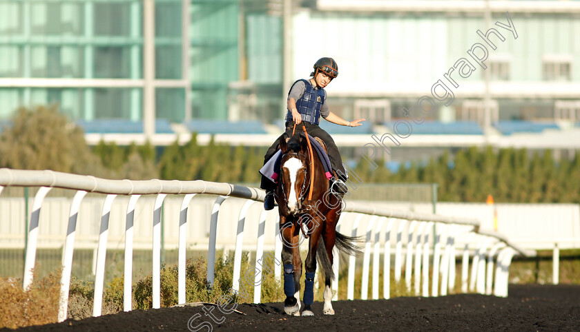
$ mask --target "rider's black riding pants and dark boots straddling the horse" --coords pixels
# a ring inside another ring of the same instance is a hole
[[[342,178],[345,174],[347,174],[346,170],[342,166],[342,158],[340,157],[340,152],[338,152],[336,143],[334,143],[334,139],[332,139],[332,137],[318,125],[313,125],[312,123],[307,123],[305,121],[302,121],[300,124],[296,125],[296,133],[303,131],[302,124],[305,125],[306,131],[310,136],[318,137],[326,144],[331,167],[338,174],[338,176]],[[288,121],[286,123],[286,132],[280,135],[280,137],[284,137],[284,139],[291,137],[293,127],[294,121]],[[271,156],[273,156],[273,154],[276,153],[276,151],[278,151],[278,142],[280,142],[280,137],[276,139],[276,141],[266,152],[266,155],[264,156],[264,164],[270,159]],[[260,188],[264,190],[273,190],[275,187],[275,183],[273,183],[271,180],[268,180],[268,178],[265,176],[262,176],[262,183]]]

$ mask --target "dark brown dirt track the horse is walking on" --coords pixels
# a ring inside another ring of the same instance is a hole
[[[204,307],[135,310],[81,321],[29,327],[18,331],[580,331],[580,286],[510,285],[508,298],[484,295],[450,295],[440,298],[394,298],[374,301],[338,301],[336,315],[322,315],[322,303],[315,302],[314,317],[289,317],[282,303],[242,304],[246,315],[223,315],[219,320],[204,315]],[[206,307],[206,310],[209,308]],[[206,322],[206,326],[200,324]],[[197,327],[198,329],[193,329]]]

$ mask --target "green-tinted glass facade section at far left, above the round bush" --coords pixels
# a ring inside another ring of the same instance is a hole
[[[19,106],[58,103],[73,120],[141,121],[152,83],[155,116],[182,121],[182,1],[152,2],[151,78],[144,75],[145,2],[1,1],[0,118]]]

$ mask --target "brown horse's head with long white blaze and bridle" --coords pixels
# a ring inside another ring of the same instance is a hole
[[[303,200],[309,187],[309,158],[307,143],[298,135],[290,138],[288,143],[280,138],[282,160],[280,161],[280,186],[278,187],[278,205],[288,214],[300,214],[305,211]]]

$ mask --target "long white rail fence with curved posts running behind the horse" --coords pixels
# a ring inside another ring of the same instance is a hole
[[[254,204],[260,204],[264,193],[260,189],[231,185],[228,183],[211,183],[202,180],[106,180],[93,176],[80,176],[53,171],[28,171],[15,169],[0,169],[0,194],[4,187],[40,187],[32,205],[30,226],[28,228],[28,245],[24,262],[23,288],[32,283],[32,268],[35,266],[37,238],[40,222],[40,210],[43,199],[50,189],[59,187],[76,190],[70,203],[68,215],[68,229],[64,243],[62,258],[61,291],[59,298],[59,321],[64,321],[68,309],[68,292],[72,266],[72,253],[75,248],[75,232],[77,230],[77,216],[79,206],[88,192],[106,194],[101,209],[100,232],[97,242],[97,267],[95,273],[95,295],[93,315],[101,315],[103,285],[105,273],[105,257],[109,229],[110,210],[117,195],[129,196],[125,220],[124,243],[124,310],[131,308],[132,262],[133,262],[133,229],[135,226],[135,207],[142,195],[157,195],[153,207],[153,308],[160,308],[160,244],[161,244],[161,208],[168,195],[184,195],[179,220],[178,245],[178,302],[186,302],[185,298],[185,267],[186,267],[186,225],[187,211],[192,198],[197,194],[212,194],[218,196],[211,211],[207,280],[213,284],[215,269],[216,235],[218,233],[218,214],[224,200],[229,197],[247,200],[241,207],[238,215],[238,230],[235,237],[235,253],[233,266],[233,285],[235,291],[240,289],[242,246],[244,241],[244,225],[247,213]],[[1,196],[0,196],[1,198]],[[260,214],[258,236],[256,240],[255,264],[261,264],[264,251],[264,236],[266,211]],[[0,220],[6,222],[6,220]],[[191,223],[191,222],[190,222]],[[381,209],[360,203],[345,205],[338,221],[337,230],[343,234],[360,236],[366,240],[363,256],[363,278],[360,297],[368,298],[369,279],[372,276],[372,298],[378,299],[380,253],[383,252],[383,298],[389,298],[390,272],[392,257],[392,232],[396,226],[396,244],[394,245],[394,277],[398,282],[402,277],[403,259],[405,260],[405,283],[411,291],[412,276],[414,274],[414,292],[416,295],[438,296],[446,295],[455,287],[456,248],[463,248],[461,273],[461,290],[463,292],[476,291],[483,294],[498,296],[508,295],[508,272],[514,255],[533,256],[534,251],[524,251],[512,244],[499,233],[479,229],[480,221],[476,218],[454,218],[438,216],[436,214],[417,214],[392,209]],[[280,257],[282,242],[278,227],[273,227],[276,234],[275,256]],[[364,234],[362,230],[366,232]],[[374,234],[374,237],[373,237]],[[431,237],[431,238],[429,238]],[[383,238],[383,248],[380,248]],[[405,241],[403,239],[406,238]],[[433,249],[430,249],[433,245]],[[405,248],[403,248],[405,246]],[[471,276],[469,273],[470,252],[475,249],[471,261]],[[498,253],[499,251],[499,253]],[[497,253],[497,255],[496,255]],[[372,273],[370,273],[372,255]],[[403,258],[405,255],[405,258]],[[415,259],[413,265],[413,257]],[[431,259],[430,259],[431,258]],[[495,269],[494,269],[495,262]],[[433,264],[432,280],[429,285],[429,264]],[[347,298],[354,299],[356,258],[349,257]],[[334,256],[334,271],[337,276],[331,288],[334,291],[334,300],[338,299],[338,254]],[[495,273],[494,273],[495,271]],[[281,269],[275,269],[276,278],[280,280]],[[439,280],[441,276],[441,282]],[[260,302],[261,273],[255,273],[255,303]],[[467,281],[469,280],[469,284]],[[429,293],[429,288],[431,292]]]

